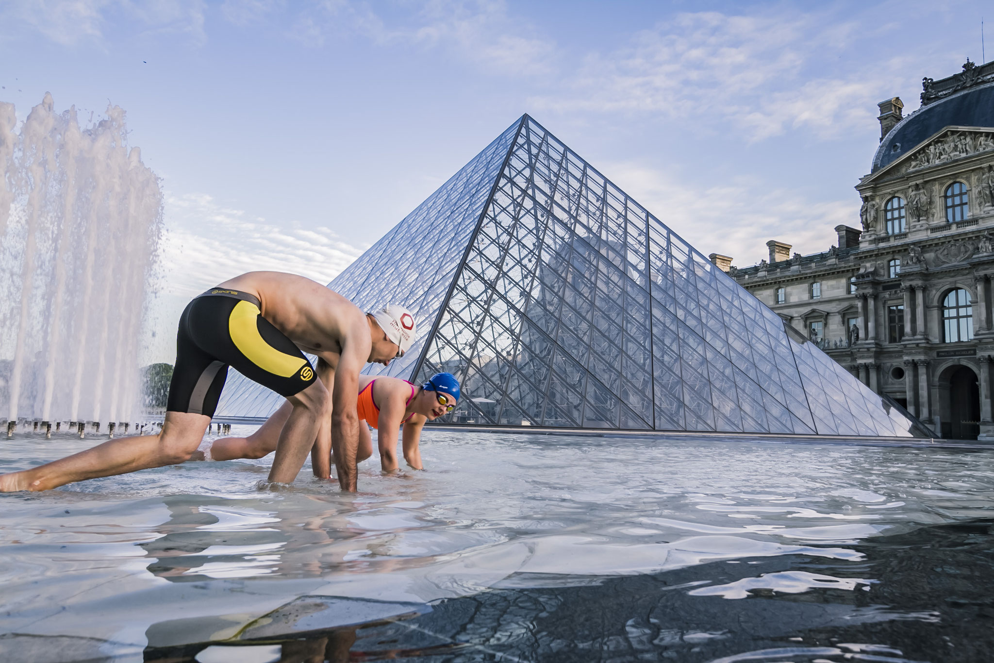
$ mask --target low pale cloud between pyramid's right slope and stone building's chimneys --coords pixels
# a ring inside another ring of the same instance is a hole
[[[833,229],[852,226],[859,216],[853,202],[812,202],[755,182],[698,187],[632,162],[608,163],[602,172],[691,246],[705,255],[731,255],[738,266],[767,257],[767,240],[801,253],[826,250],[837,243]]]

